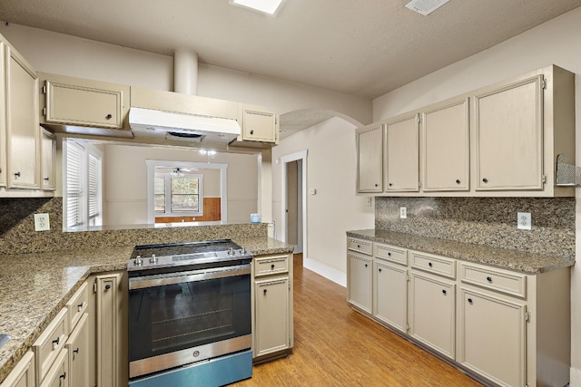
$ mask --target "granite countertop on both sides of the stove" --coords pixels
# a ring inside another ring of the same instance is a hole
[[[290,253],[270,237],[232,238],[253,256]],[[0,255],[0,382],[30,350],[66,301],[93,273],[125,270],[133,246]]]

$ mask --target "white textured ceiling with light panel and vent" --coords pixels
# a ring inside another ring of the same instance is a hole
[[[375,98],[566,13],[581,0],[286,0],[276,17],[228,0],[1,0],[0,20]]]

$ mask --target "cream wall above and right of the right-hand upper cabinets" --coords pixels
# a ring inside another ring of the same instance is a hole
[[[581,165],[581,8],[418,81],[373,102],[373,119],[380,121],[489,83],[554,63],[576,73],[576,165]],[[577,203],[581,191],[577,189]],[[578,206],[578,204],[577,204]],[[576,209],[576,261],[581,264],[581,208]],[[581,386],[581,269],[572,269],[571,386]]]

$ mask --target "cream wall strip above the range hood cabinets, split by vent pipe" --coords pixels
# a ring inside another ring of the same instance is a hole
[[[0,23],[0,34],[39,72],[173,90],[173,58],[113,44],[103,44],[18,24]],[[359,122],[371,122],[371,102],[261,75],[200,63],[198,94],[254,103],[283,114],[302,109],[339,111]]]

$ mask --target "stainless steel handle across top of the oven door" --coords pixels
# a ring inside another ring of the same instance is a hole
[[[175,285],[184,282],[205,281],[208,279],[244,276],[251,274],[250,265],[229,266],[220,269],[193,270],[185,273],[172,273],[155,276],[136,276],[129,278],[129,290],[146,287]]]

